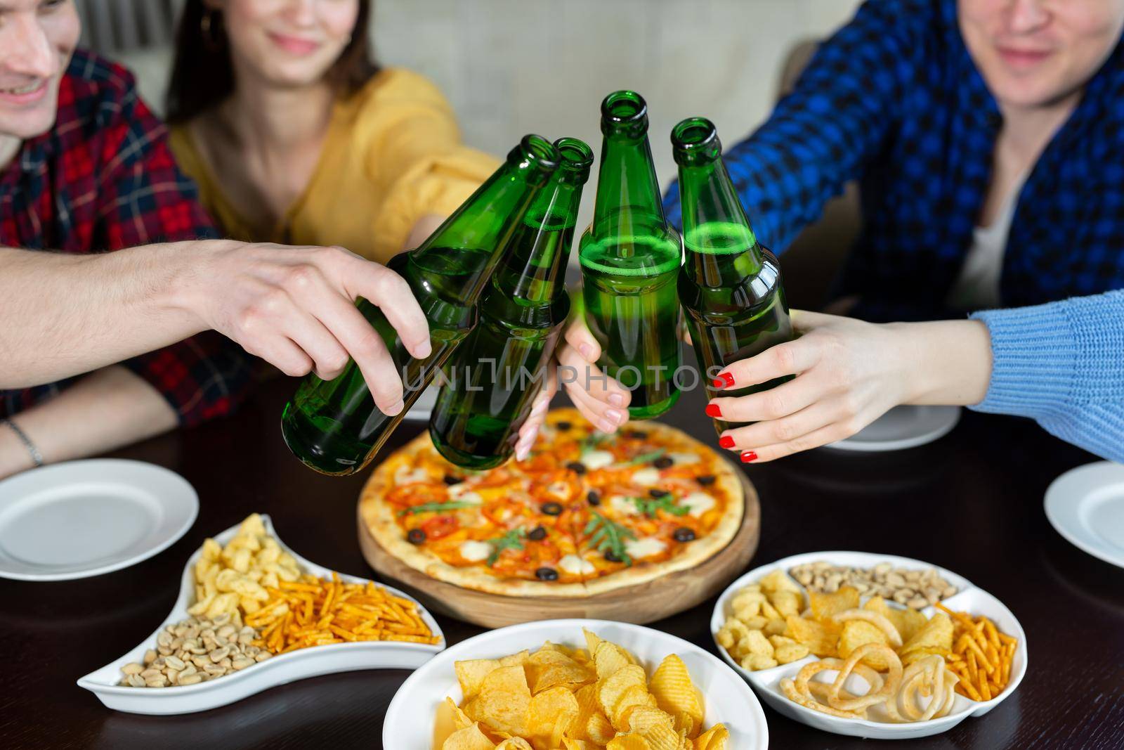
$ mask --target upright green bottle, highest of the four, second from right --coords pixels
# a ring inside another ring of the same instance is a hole
[[[601,133],[593,223],[578,250],[586,322],[601,346],[601,371],[632,394],[629,416],[647,419],[679,399],[682,245],[663,215],[643,97],[606,97]]]

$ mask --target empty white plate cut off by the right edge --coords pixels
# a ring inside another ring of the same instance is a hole
[[[1046,489],[1046,518],[1071,544],[1124,568],[1124,466],[1071,469]]]

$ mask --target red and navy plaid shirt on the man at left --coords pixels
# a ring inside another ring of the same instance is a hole
[[[0,246],[97,253],[215,236],[133,75],[76,52],[54,128],[26,141],[0,171]],[[164,395],[181,424],[194,424],[235,407],[250,385],[250,362],[237,344],[206,332],[123,364]],[[0,390],[0,417],[70,382]]]

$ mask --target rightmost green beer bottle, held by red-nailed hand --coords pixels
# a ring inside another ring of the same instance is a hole
[[[709,398],[745,396],[772,388],[777,378],[738,389],[716,390],[722,368],[792,338],[785,287],[777,257],[763,247],[722,161],[714,124],[701,117],[671,130],[679,165],[686,261],[679,273],[679,300],[687,328],[706,373]],[[720,434],[729,424],[715,419]]]

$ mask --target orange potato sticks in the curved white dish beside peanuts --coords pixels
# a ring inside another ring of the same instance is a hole
[[[257,645],[272,653],[355,641],[439,641],[413,602],[371,582],[344,584],[337,573],[330,580],[306,575],[266,590],[269,600],[246,615],[246,623],[261,629]]]

